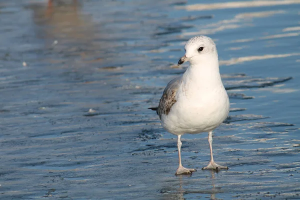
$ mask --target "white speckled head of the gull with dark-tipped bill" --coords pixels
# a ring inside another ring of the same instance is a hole
[[[215,55],[217,58],[217,51],[215,43],[210,37],[204,35],[198,35],[190,38],[185,46],[185,55],[182,56],[178,65],[185,61],[189,61],[191,64],[199,62],[203,56]]]

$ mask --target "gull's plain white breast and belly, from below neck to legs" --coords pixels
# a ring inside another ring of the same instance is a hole
[[[217,71],[218,72],[218,71]],[[162,114],[161,124],[170,133],[200,133],[213,130],[226,119],[229,112],[229,99],[221,82],[216,78],[193,78],[192,70],[187,69],[182,76],[176,93],[176,102],[167,115]]]

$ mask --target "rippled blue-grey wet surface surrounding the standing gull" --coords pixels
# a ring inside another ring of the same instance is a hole
[[[0,199],[298,199],[300,0],[0,0]],[[214,39],[227,120],[174,135],[157,106]]]

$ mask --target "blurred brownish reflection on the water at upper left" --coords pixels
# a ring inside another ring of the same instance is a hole
[[[94,24],[90,15],[81,12],[82,6],[77,0],[30,3],[28,8],[32,10],[36,37],[44,39],[46,44],[55,41],[59,44],[90,46],[95,34]]]

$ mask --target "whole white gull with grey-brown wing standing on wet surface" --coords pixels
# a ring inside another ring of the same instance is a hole
[[[219,126],[229,112],[229,98],[219,73],[215,43],[210,37],[198,35],[190,38],[178,65],[189,61],[185,72],[166,85],[156,110],[161,125],[177,135],[179,166],[175,174],[191,173],[194,168],[181,164],[181,135],[208,132],[210,161],[202,169],[228,169],[214,162],[212,156],[212,131]]]

